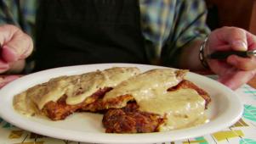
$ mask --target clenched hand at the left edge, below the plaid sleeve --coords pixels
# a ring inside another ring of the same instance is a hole
[[[14,25],[0,26],[0,44],[0,74],[15,69],[33,49],[31,37]]]

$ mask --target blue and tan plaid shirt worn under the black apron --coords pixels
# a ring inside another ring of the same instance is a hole
[[[38,0],[0,0],[0,24],[13,24],[35,36]],[[152,64],[174,66],[181,47],[209,33],[203,0],[139,0],[141,30]],[[166,46],[166,47],[164,47]]]

